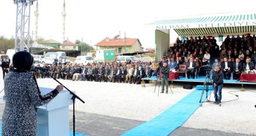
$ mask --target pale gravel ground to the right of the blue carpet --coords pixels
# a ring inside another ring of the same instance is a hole
[[[228,94],[228,91],[239,89],[240,86],[225,85],[222,91],[222,101],[235,99],[236,97]],[[255,85],[246,87],[246,90],[256,91]],[[221,107],[212,103],[204,103],[183,126],[256,135],[256,109],[254,107],[256,93],[238,92],[234,94],[239,95],[239,100],[222,102]],[[211,100],[214,100],[213,94]]]

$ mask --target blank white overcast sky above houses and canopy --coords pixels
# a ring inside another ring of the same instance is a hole
[[[39,0],[38,36],[62,40],[63,0]],[[255,10],[256,1],[141,1],[141,0],[66,0],[66,37],[81,39],[94,46],[119,31],[128,38],[139,38],[145,48],[155,47],[155,27],[146,24],[159,19]],[[31,9],[31,31],[35,29],[35,4]],[[1,0],[0,35],[15,36],[16,6]],[[172,33],[176,36],[176,33]],[[172,42],[172,41],[170,41]]]

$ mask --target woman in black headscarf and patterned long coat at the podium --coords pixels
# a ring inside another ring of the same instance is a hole
[[[6,105],[2,135],[36,135],[36,107],[50,102],[62,89],[41,96],[35,77],[29,73],[33,57],[28,52],[13,55],[15,70],[5,77]]]

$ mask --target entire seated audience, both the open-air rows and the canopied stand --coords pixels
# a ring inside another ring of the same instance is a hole
[[[253,34],[230,38],[227,36],[219,47],[215,37],[190,37],[183,42],[177,38],[173,47],[170,47],[162,62],[167,62],[170,72],[179,72],[181,65],[186,68],[187,78],[205,76],[205,66],[211,65],[214,72],[216,65],[224,73],[225,79],[238,79],[242,72],[256,73],[256,37]],[[141,78],[158,76],[160,64],[153,62],[124,62],[115,61],[91,64],[45,64],[44,67],[57,79],[96,81],[96,82],[122,82],[140,84]],[[31,70],[37,78],[49,78],[45,72]],[[183,74],[184,75],[184,74]],[[185,76],[184,75],[184,76]]]

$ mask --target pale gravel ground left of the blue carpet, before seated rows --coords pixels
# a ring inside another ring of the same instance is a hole
[[[173,89],[174,95],[169,92],[167,95],[160,94],[158,97],[158,87],[154,94],[155,84],[141,87],[136,84],[110,82],[67,80],[60,80],[60,82],[71,90],[75,90],[77,95],[86,102],[82,104],[76,101],[77,111],[138,121],[153,119],[192,91],[177,87]],[[44,87],[57,85],[53,79],[38,79],[38,84]]]

